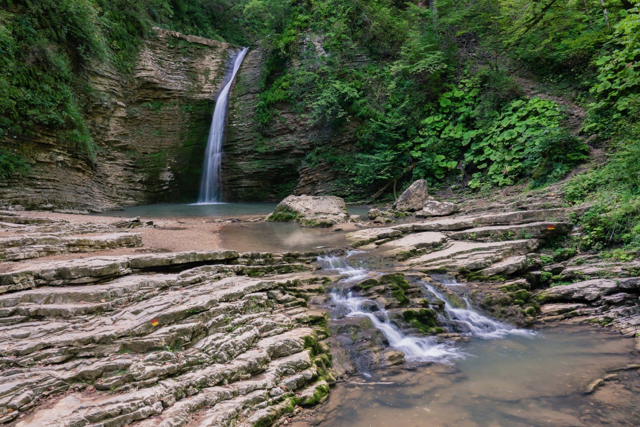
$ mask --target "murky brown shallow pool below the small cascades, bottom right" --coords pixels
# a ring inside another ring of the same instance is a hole
[[[377,373],[340,383],[307,426],[638,425],[637,394],[607,382],[595,395],[582,386],[633,362],[633,342],[595,328],[558,326],[534,337],[472,339],[453,366]],[[640,381],[638,371],[621,376]]]

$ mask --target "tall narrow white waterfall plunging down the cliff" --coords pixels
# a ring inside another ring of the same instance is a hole
[[[211,204],[220,202],[220,162],[222,158],[222,138],[225,133],[225,119],[227,118],[227,104],[229,101],[229,90],[236,77],[236,72],[244,59],[248,47],[244,47],[236,56],[234,68],[227,85],[221,90],[216,107],[213,109],[211,127],[209,128],[209,139],[207,140],[207,150],[204,154],[204,165],[202,166],[202,181],[200,182],[200,197],[198,204]]]

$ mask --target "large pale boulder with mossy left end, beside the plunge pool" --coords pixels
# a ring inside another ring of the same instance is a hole
[[[347,205],[334,196],[289,196],[278,203],[267,221],[297,221],[303,227],[332,227],[348,222]]]

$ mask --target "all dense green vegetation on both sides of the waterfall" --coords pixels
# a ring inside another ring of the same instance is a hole
[[[152,26],[268,50],[257,134],[282,108],[318,129],[355,129],[357,150],[317,143],[306,162],[348,172],[368,198],[426,178],[492,191],[545,186],[588,150],[607,165],[575,177],[590,202],[582,249],[640,245],[640,19],[637,0],[1,0],[0,135],[59,132],[92,157],[84,68],[126,74]],[[587,111],[527,97],[516,77]],[[580,133],[578,133],[580,131]],[[19,152],[19,150],[16,150]],[[24,154],[24,153],[23,153]],[[25,159],[1,153],[0,175]]]

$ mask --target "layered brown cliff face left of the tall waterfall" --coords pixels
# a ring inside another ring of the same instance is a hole
[[[109,209],[195,200],[211,113],[238,49],[156,29],[131,75],[104,65],[88,70],[96,158],[51,129],[0,141],[32,163],[26,176],[0,183],[1,204]]]

